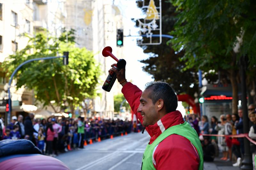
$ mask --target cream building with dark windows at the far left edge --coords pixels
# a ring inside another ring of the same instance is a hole
[[[8,82],[6,72],[1,63],[18,49],[24,48],[28,38],[22,36],[27,33],[33,36],[33,5],[32,0],[0,0],[0,100],[7,99],[4,85]],[[33,104],[33,92],[24,87],[15,89],[12,82],[12,115],[24,114],[22,104]],[[5,107],[0,107],[0,117],[6,118]]]

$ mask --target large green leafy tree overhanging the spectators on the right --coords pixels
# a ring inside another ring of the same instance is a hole
[[[248,56],[248,70],[255,71],[256,23],[255,1],[171,0],[177,7],[177,22],[170,42],[186,69],[225,73],[233,89],[232,113],[237,113],[239,58]],[[241,41],[239,41],[241,39]],[[239,52],[235,46],[239,44]],[[195,55],[195,56],[194,56]],[[255,81],[255,80],[254,80]]]

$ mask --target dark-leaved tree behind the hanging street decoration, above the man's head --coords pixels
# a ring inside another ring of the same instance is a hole
[[[153,1],[145,0],[145,4],[148,4],[154,8]],[[155,4],[159,1],[155,0]],[[138,6],[142,7],[142,1],[138,1]],[[146,10],[146,9],[145,9]],[[149,10],[150,11],[150,10]],[[148,11],[144,11],[148,14]],[[167,1],[162,1],[162,34],[168,34],[173,30],[173,26],[176,22],[175,7]],[[147,15],[148,18],[148,15]],[[141,18],[142,21],[144,18]],[[156,20],[156,24],[159,26],[159,20]],[[139,26],[138,21],[136,25]],[[155,31],[152,31],[156,33]],[[159,38],[152,38],[153,42],[157,42]],[[197,70],[194,68],[182,70],[186,67],[184,61],[180,61],[180,58],[184,55],[183,50],[176,52],[172,48],[172,44],[167,44],[169,39],[163,38],[160,45],[142,45],[144,53],[149,54],[149,58],[142,60],[142,63],[146,65],[143,70],[152,75],[156,81],[164,81],[169,83],[175,90],[175,92],[185,92],[191,96],[198,89],[198,76]],[[148,43],[149,40],[143,37],[143,43]]]

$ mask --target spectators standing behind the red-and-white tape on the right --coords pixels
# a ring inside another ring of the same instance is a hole
[[[249,137],[256,141],[256,118],[255,105],[248,106],[248,117],[250,119]],[[238,109],[238,114],[220,115],[219,120],[215,116],[208,117],[203,115],[189,114],[184,119],[196,130],[203,147],[204,160],[213,161],[221,153],[223,161],[233,161],[233,166],[240,166],[244,158],[244,138],[228,136],[205,136],[211,135],[238,135],[243,134],[243,110]],[[256,154],[256,145],[251,143],[251,153],[253,167],[255,167],[254,157]],[[232,158],[235,157],[235,160]]]

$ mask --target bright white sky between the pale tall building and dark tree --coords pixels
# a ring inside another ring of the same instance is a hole
[[[131,18],[138,18],[141,16],[140,9],[136,5],[136,0],[114,0],[114,4],[117,5],[123,15],[124,36],[139,35],[139,28],[136,28],[135,23]],[[132,11],[132,12],[131,12]],[[145,84],[150,81],[154,81],[152,75],[142,70],[144,63],[140,63],[139,60],[147,59],[148,54],[143,53],[143,49],[137,46],[137,37],[124,37],[123,53],[126,55],[126,79],[132,80],[134,85],[137,85],[142,91],[145,89]],[[177,110],[181,114],[185,115],[185,109],[181,102],[178,102]]]

